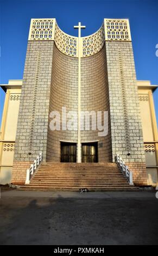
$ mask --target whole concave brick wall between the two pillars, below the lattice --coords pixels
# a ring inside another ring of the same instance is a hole
[[[49,113],[61,114],[62,107],[66,107],[67,112],[78,112],[78,59],[66,56],[54,46]],[[109,112],[105,46],[93,56],[81,58],[81,111]],[[49,117],[49,123],[51,120]],[[60,141],[77,142],[78,132],[51,131],[48,127],[47,161],[60,161]],[[98,161],[111,161],[110,126],[105,137],[98,137],[98,130],[81,131],[81,142],[93,141],[98,141]]]

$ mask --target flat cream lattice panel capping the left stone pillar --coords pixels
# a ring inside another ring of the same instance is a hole
[[[55,19],[31,19],[28,40],[54,40]]]

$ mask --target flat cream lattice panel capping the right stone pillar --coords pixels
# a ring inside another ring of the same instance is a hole
[[[129,20],[104,19],[105,40],[131,41]]]

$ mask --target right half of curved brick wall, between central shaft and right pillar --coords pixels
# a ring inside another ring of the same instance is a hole
[[[93,56],[81,58],[81,111],[108,111],[108,135],[100,137],[98,130],[81,131],[81,142],[98,141],[98,161],[110,162],[112,150],[105,45]]]

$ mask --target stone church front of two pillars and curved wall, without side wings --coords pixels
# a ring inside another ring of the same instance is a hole
[[[55,130],[51,112],[108,111],[108,135],[98,130]],[[89,36],[65,34],[55,19],[31,19],[18,113],[12,182],[24,183],[26,170],[43,154],[44,162],[61,161],[61,145],[96,143],[98,162],[123,157],[134,183],[147,183],[140,106],[129,21],[104,19]]]

